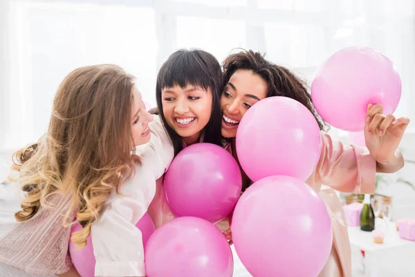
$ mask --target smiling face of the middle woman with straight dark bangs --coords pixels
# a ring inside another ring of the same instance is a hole
[[[212,91],[188,84],[162,91],[163,114],[167,124],[181,136],[187,145],[199,140],[212,114]]]

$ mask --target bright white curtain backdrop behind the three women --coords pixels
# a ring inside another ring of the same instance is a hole
[[[0,152],[46,131],[57,85],[72,69],[119,64],[154,104],[158,68],[183,47],[219,61],[252,48],[311,81],[340,48],[371,46],[400,71],[397,114],[415,118],[414,9],[414,0],[0,1]]]

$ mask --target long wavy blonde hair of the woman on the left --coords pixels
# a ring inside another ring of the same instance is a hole
[[[133,173],[131,105],[134,78],[119,66],[84,66],[69,73],[57,89],[48,132],[13,155],[26,192],[19,222],[39,207],[53,208],[55,194],[71,197],[66,212],[83,226],[72,241],[84,247],[91,224],[113,188]],[[62,222],[64,224],[64,222]]]

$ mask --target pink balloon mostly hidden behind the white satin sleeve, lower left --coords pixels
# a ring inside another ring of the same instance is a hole
[[[148,213],[145,213],[136,224],[137,228],[140,229],[142,234],[142,243],[146,246],[147,241],[149,240],[150,235],[154,232],[154,224],[151,220],[151,217]],[[71,233],[79,231],[82,229],[81,224],[77,223],[73,225]],[[69,253],[71,254],[71,259],[73,265],[77,269],[78,273],[82,277],[93,277],[95,276],[95,256],[93,255],[93,246],[91,235],[89,235],[86,247],[77,250],[75,244],[72,240],[69,240]]]

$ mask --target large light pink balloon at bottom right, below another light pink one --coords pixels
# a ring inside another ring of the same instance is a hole
[[[333,241],[326,205],[303,181],[271,176],[243,193],[232,217],[235,250],[255,277],[315,277]]]

